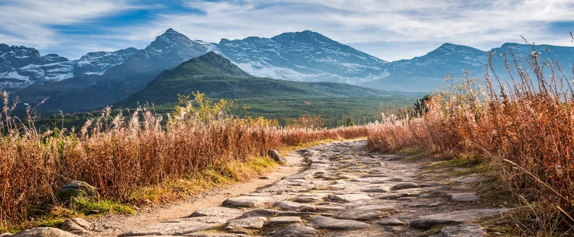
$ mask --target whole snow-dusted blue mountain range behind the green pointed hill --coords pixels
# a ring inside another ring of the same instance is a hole
[[[574,61],[574,47],[546,45],[553,59]],[[506,43],[492,49],[526,57],[529,45]],[[550,57],[542,46],[542,59]],[[443,44],[424,56],[385,61],[305,30],[271,38],[222,39],[219,43],[191,40],[168,29],[145,49],[93,52],[79,60],[59,55],[41,56],[34,48],[0,44],[0,90],[20,96],[25,103],[50,99],[42,110],[77,111],[118,103],[144,89],[156,76],[181,63],[215,52],[251,77],[290,81],[335,82],[387,91],[429,91],[445,75],[462,76],[468,68],[482,75],[487,52],[469,46]],[[495,68],[504,71],[500,56]]]

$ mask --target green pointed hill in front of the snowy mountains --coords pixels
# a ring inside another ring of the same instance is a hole
[[[200,91],[212,98],[297,98],[350,96],[391,96],[392,92],[372,90],[341,83],[302,83],[254,77],[232,64],[230,60],[209,52],[166,70],[152,82],[115,107],[134,107],[139,103],[165,104],[177,102],[178,94]]]

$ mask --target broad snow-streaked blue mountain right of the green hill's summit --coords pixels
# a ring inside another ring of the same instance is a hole
[[[219,49],[252,75],[293,81],[360,84],[384,77],[388,63],[309,30],[222,39]]]

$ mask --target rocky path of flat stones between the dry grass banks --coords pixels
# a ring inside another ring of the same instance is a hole
[[[425,236],[445,225],[435,236],[487,236],[472,222],[509,211],[472,192],[480,176],[444,178],[406,157],[369,153],[364,140],[315,146],[293,153],[291,166],[269,179],[172,209],[98,220],[87,235]]]

